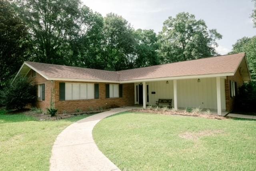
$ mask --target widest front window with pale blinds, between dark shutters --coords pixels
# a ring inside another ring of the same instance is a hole
[[[60,83],[60,100],[94,99],[94,87],[94,84]]]

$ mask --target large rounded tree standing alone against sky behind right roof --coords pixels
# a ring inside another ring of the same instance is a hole
[[[158,52],[163,63],[205,58],[217,54],[214,46],[221,38],[215,29],[207,30],[204,20],[182,12],[164,22]]]

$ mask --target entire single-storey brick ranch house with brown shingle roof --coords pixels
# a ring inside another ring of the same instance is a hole
[[[18,75],[34,79],[36,107],[52,103],[59,113],[106,105],[146,108],[172,99],[175,109],[200,106],[221,115],[232,111],[238,87],[251,80],[245,53],[117,72],[24,62]]]

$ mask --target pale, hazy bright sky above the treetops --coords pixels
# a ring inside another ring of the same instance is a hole
[[[113,12],[135,28],[162,30],[168,16],[179,12],[194,14],[206,22],[208,29],[217,29],[222,34],[218,40],[219,54],[227,54],[232,44],[244,36],[256,35],[250,14],[254,9],[252,0],[82,0],[83,4],[102,16]]]

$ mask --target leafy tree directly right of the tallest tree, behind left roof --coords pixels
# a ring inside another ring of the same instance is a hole
[[[101,58],[103,17],[86,6],[81,12],[87,30],[72,42],[73,54],[68,63],[78,67],[104,69],[105,62]]]

